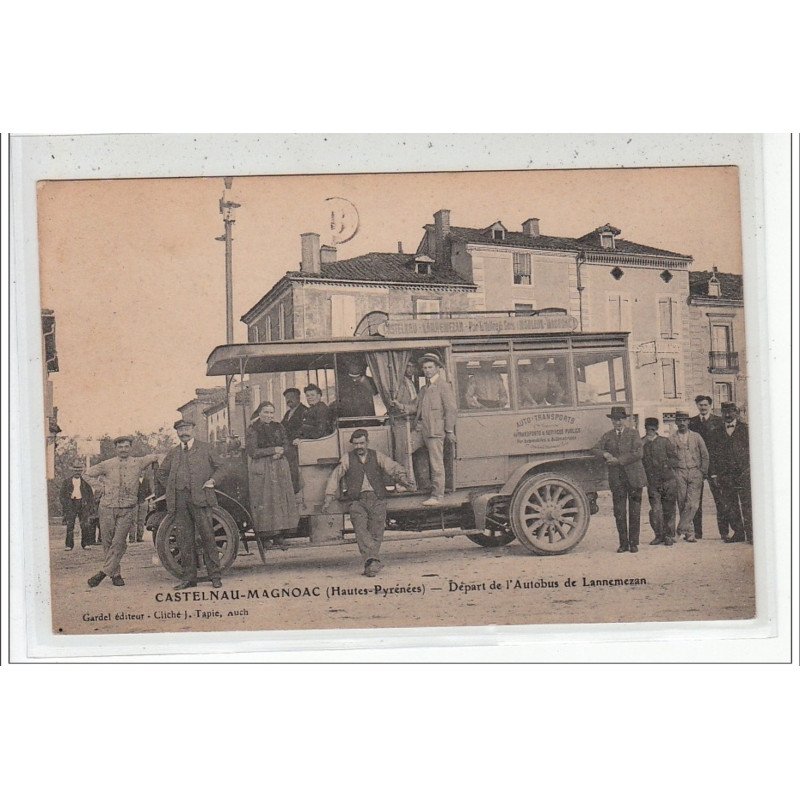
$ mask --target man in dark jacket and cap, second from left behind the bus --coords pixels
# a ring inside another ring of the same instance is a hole
[[[658,435],[658,420],[655,417],[647,417],[644,430],[642,465],[647,475],[650,526],[656,535],[650,544],[669,547],[675,544],[675,504],[678,501],[675,468],[678,466],[678,453],[666,436]]]

